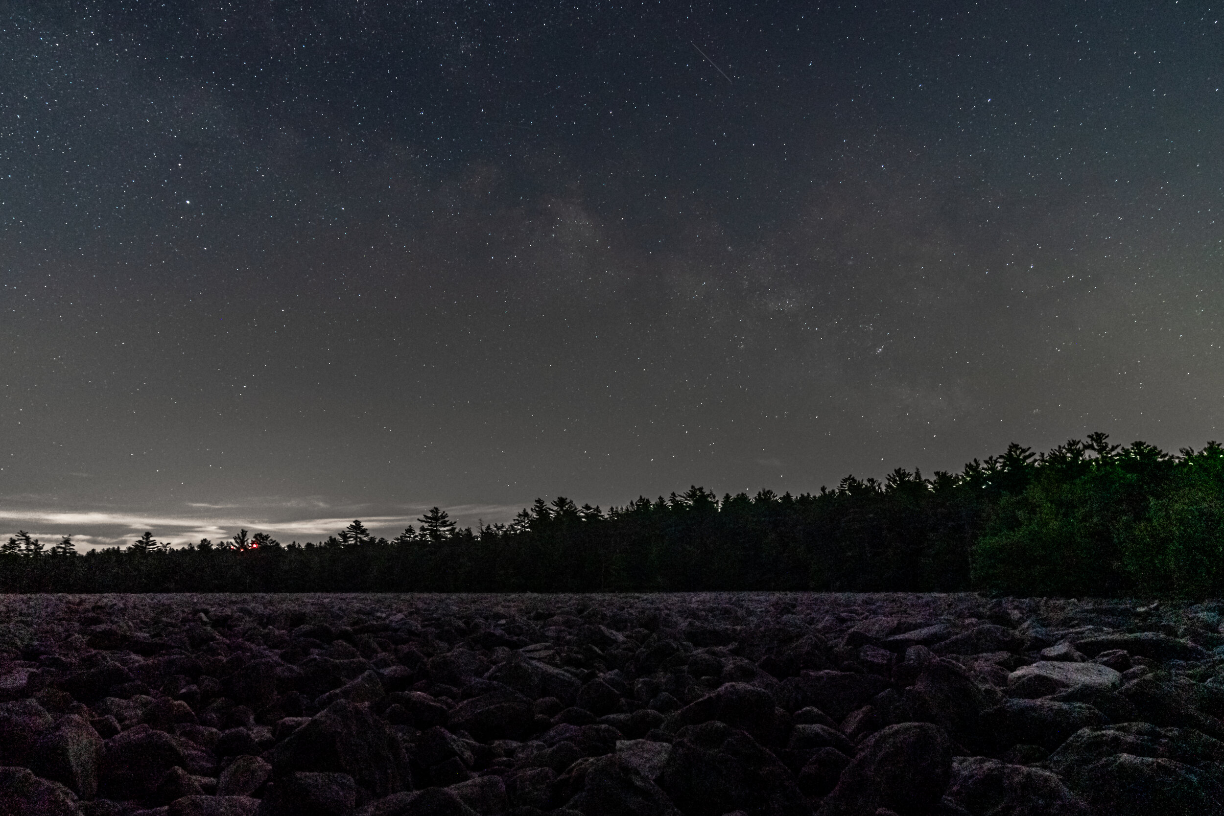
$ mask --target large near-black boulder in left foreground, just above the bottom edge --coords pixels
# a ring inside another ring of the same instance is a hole
[[[410,788],[399,739],[370,712],[338,700],[268,751],[275,773],[348,773],[375,796]],[[278,783],[279,785],[279,783]]]

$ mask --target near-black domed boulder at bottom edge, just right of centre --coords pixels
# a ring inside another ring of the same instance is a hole
[[[685,816],[755,810],[808,816],[791,772],[748,732],[711,721],[682,728],[659,779]]]

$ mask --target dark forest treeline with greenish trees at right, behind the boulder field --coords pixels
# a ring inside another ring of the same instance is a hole
[[[185,548],[144,533],[77,554],[0,546],[7,592],[958,591],[1204,597],[1224,590],[1224,448],[1166,454],[1103,433],[1011,444],[960,473],[897,469],[835,489],[700,487],[607,511],[537,499],[508,525],[433,508],[388,541],[355,521],[321,542],[241,531]]]

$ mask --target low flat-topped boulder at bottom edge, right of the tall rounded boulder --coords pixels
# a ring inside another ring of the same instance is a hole
[[[984,756],[953,757],[944,801],[971,816],[1092,816],[1049,771]]]

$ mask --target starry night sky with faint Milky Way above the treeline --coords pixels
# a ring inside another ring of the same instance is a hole
[[[4,4],[0,529],[392,536],[1202,447],[1220,18]]]

